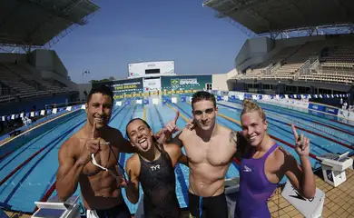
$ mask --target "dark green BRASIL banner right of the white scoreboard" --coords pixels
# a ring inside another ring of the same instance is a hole
[[[178,75],[162,76],[162,90],[167,91],[185,91],[185,90],[203,90],[206,84],[211,84],[211,75]]]

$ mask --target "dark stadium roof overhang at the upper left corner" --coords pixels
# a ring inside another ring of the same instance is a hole
[[[0,43],[43,46],[98,9],[90,0],[1,0]]]

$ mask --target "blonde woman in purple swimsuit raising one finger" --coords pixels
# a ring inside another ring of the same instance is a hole
[[[241,134],[247,142],[241,143],[240,195],[235,208],[238,218],[269,218],[267,201],[284,175],[294,188],[306,198],[316,193],[315,177],[309,160],[310,139],[292,131],[296,141],[296,159],[276,144],[267,134],[268,123],[261,107],[251,100],[243,102],[241,113]],[[239,137],[240,138],[240,137]],[[248,144],[245,146],[245,144]],[[251,145],[251,146],[250,146]]]

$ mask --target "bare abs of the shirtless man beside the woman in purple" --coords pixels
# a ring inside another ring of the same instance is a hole
[[[224,192],[224,178],[230,164],[212,166],[190,163],[189,192],[201,197],[217,196]]]

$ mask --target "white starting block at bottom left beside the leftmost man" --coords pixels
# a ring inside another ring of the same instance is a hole
[[[32,218],[80,218],[78,204],[79,196],[74,195],[64,203],[60,202],[57,196],[50,198],[47,202],[34,202],[39,208]]]

